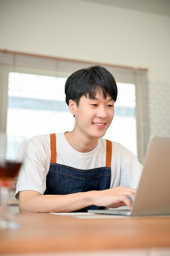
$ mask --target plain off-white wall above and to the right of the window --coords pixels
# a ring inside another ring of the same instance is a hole
[[[80,0],[0,0],[0,49],[148,69],[150,133],[170,136],[170,16]]]

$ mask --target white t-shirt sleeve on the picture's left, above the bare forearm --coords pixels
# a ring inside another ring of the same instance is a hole
[[[33,137],[26,145],[24,162],[21,166],[15,198],[19,198],[19,192],[33,190],[44,194],[46,189],[46,175],[49,170],[49,160],[46,149],[39,137]]]

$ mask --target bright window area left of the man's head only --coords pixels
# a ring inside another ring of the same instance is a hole
[[[74,118],[65,103],[66,78],[9,73],[7,133],[31,138],[71,130]]]

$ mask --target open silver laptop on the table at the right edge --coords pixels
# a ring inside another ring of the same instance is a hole
[[[131,209],[88,210],[126,216],[170,215],[170,137],[150,137]]]

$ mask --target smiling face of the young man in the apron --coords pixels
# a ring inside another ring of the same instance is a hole
[[[79,104],[72,101],[77,132],[86,137],[103,137],[114,116],[115,101],[109,96],[104,99],[102,91],[97,92],[95,99],[82,96]]]

